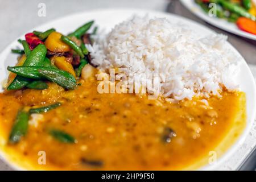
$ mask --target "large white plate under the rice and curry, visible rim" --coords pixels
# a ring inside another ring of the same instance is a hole
[[[72,30],[74,30],[76,27],[81,26],[81,24],[83,24],[84,22],[94,19],[96,20],[96,24],[98,24],[101,28],[105,28],[106,31],[109,31],[111,30],[111,28],[114,27],[115,24],[122,22],[127,18],[130,18],[131,15],[133,14],[138,14],[138,15],[148,14],[151,17],[154,17],[154,16],[165,17],[170,19],[171,22],[183,23],[187,25],[192,30],[197,32],[198,35],[201,35],[201,36],[206,36],[213,33],[213,31],[209,30],[209,28],[201,26],[198,23],[192,22],[192,20],[185,19],[177,15],[160,13],[156,11],[138,10],[138,9],[135,9],[135,10],[108,9],[108,10],[94,10],[89,12],[86,11],[85,13],[68,15],[60,19],[52,20],[51,22],[43,24],[42,26],[33,28],[33,30],[45,31],[48,28],[54,27],[56,28],[57,31],[67,34],[68,32],[71,32]],[[24,39],[24,35],[20,36],[19,38]],[[19,38],[17,38],[16,40],[18,40]],[[14,40],[13,43],[7,46],[6,49],[0,54],[1,80],[7,77],[7,71],[6,71],[7,66],[14,65],[16,62],[17,56],[10,53],[11,48],[20,46],[16,40]],[[238,53],[236,49],[234,49],[230,44],[228,46],[233,50],[234,54],[238,56],[240,55],[240,53]],[[218,165],[220,165],[224,160],[228,159],[233,154],[233,152],[237,150],[237,148],[245,139],[246,135],[249,133],[249,129],[252,126],[255,111],[256,111],[255,84],[254,84],[253,75],[251,74],[250,69],[247,66],[245,60],[242,61],[241,72],[239,73],[238,80],[241,86],[241,90],[246,93],[246,101],[247,101],[246,129],[245,131],[243,131],[243,134],[240,136],[237,142],[232,147],[230,147],[230,149],[224,155],[222,155],[220,159],[217,160],[217,163],[215,163],[212,166],[205,166],[201,169],[217,169]],[[15,167],[15,164],[12,163],[11,165]]]

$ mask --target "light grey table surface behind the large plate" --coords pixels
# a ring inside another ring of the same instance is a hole
[[[38,16],[39,3],[46,4],[46,16]],[[33,27],[60,16],[99,8],[127,7],[167,11],[204,24],[212,30],[229,36],[229,42],[245,57],[247,63],[256,64],[256,41],[241,38],[213,27],[185,9],[179,0],[0,0],[0,52],[18,36]],[[0,170],[11,170],[0,160]]]

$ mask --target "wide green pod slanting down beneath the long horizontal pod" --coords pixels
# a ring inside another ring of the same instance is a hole
[[[39,44],[36,46],[27,59],[24,61],[23,66],[34,66],[41,67],[43,65],[44,58],[46,57],[46,46]],[[26,86],[30,80],[28,78],[22,78],[21,76],[16,76],[14,81],[7,87],[7,90],[18,90]]]

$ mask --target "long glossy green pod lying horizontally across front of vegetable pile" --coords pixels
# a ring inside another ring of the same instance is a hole
[[[55,69],[55,68],[46,68],[46,67],[8,67],[10,72],[16,73],[18,76],[32,78],[40,80],[47,78],[47,80],[56,82],[60,86],[63,86],[67,89],[73,89],[76,86],[76,78],[70,73]]]

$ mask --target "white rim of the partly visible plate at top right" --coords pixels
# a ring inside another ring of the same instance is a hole
[[[213,26],[216,26],[218,28],[221,28],[225,31],[231,32],[236,35],[243,36],[245,38],[256,40],[256,35],[249,34],[245,31],[240,30],[235,23],[230,23],[225,19],[220,19],[217,17],[210,17],[207,13],[205,13],[199,5],[195,3],[194,0],[180,0],[180,2],[187,7],[188,10],[190,10],[193,14],[197,15],[199,18],[205,20],[205,22],[208,22],[212,24]]]

